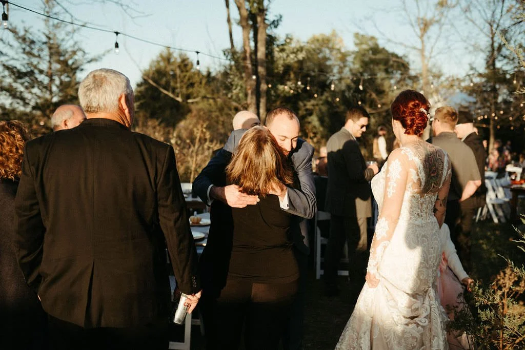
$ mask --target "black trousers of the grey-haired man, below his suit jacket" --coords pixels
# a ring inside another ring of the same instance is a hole
[[[83,328],[48,316],[51,350],[166,350],[168,319],[127,328]]]

